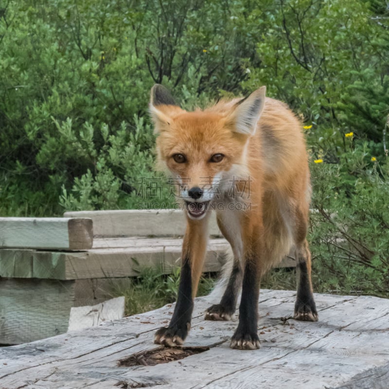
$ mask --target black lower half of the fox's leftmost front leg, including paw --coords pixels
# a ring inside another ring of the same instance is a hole
[[[189,259],[183,261],[176,307],[168,327],[161,327],[156,332],[154,342],[166,346],[183,344],[191,328],[193,312],[192,272]]]

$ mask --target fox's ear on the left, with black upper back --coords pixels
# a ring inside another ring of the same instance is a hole
[[[155,124],[154,132],[159,133],[169,128],[173,119],[171,114],[174,111],[181,110],[174,101],[169,90],[160,84],[155,84],[151,88],[150,96],[150,114]]]

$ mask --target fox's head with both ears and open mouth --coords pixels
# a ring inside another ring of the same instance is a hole
[[[163,86],[151,89],[158,166],[174,179],[191,219],[203,218],[210,203],[247,177],[246,146],[264,103],[262,87],[245,99],[187,112]]]

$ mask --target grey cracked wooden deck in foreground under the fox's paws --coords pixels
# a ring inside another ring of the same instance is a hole
[[[196,299],[183,351],[153,344],[173,307],[95,328],[0,348],[1,389],[342,388],[389,387],[389,300],[316,295],[317,323],[290,318],[295,292],[262,290],[261,349],[229,348],[237,322],[203,320],[209,296]],[[144,354],[146,351],[151,354]],[[155,351],[157,350],[157,351]],[[140,353],[140,354],[139,354]],[[158,359],[160,358],[160,359]]]

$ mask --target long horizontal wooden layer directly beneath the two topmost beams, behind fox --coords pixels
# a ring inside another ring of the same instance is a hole
[[[132,277],[142,267],[160,266],[165,273],[179,266],[181,244],[169,246],[102,248],[83,252],[0,250],[0,277],[35,277],[56,280]],[[218,271],[225,242],[210,242],[204,271]]]

